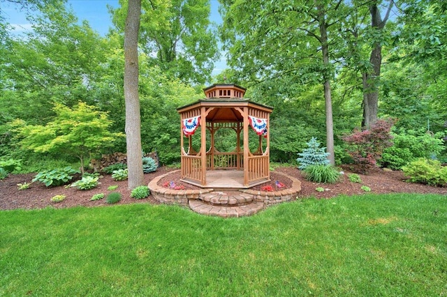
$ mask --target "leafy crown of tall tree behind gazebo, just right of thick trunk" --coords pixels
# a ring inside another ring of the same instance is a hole
[[[113,10],[113,22],[122,31],[126,1]],[[169,77],[203,84],[210,80],[219,57],[216,33],[210,22],[210,0],[142,0],[140,44]]]

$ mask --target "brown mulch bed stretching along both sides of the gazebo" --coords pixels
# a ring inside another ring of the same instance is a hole
[[[172,172],[176,169],[167,167],[161,167],[156,172],[145,174],[145,183],[149,183],[152,178]],[[383,194],[383,193],[395,193],[395,192],[408,192],[408,193],[434,193],[447,195],[447,188],[437,188],[428,185],[421,185],[417,183],[406,183],[405,176],[402,172],[388,172],[381,169],[376,169],[370,172],[368,175],[359,174],[362,183],[351,183],[347,174],[349,171],[346,169],[345,174],[342,175],[342,180],[335,184],[318,184],[312,183],[303,178],[301,172],[294,167],[280,167],[276,169],[278,172],[293,176],[301,181],[301,192],[298,197],[315,197],[318,199],[328,199],[336,197],[337,195],[361,195],[365,194],[365,191],[360,187],[367,185],[371,188],[370,193]],[[10,174],[7,178],[0,181],[0,209],[34,209],[34,208],[66,208],[73,206],[108,206],[105,199],[90,201],[90,198],[98,193],[104,193],[107,195],[109,192],[120,192],[122,194],[122,200],[118,204],[132,204],[132,203],[149,203],[158,204],[154,197],[150,195],[147,199],[133,199],[130,197],[131,190],[127,188],[127,181],[114,181],[110,175],[104,175],[100,181],[101,184],[92,190],[78,190],[76,188],[64,188],[64,186],[46,188],[42,183],[32,183],[27,190],[18,190],[17,183],[30,183],[31,179],[36,174]],[[160,181],[161,185],[166,182],[173,181],[176,185],[184,185],[186,189],[198,189],[193,185],[182,183],[179,181],[179,173],[168,174]],[[291,180],[285,178],[281,174],[272,172],[271,182],[263,185],[258,185],[252,189],[261,190],[261,187],[265,185],[271,185],[275,188],[275,181],[279,181],[285,185],[284,188],[278,190],[284,190],[290,188]],[[74,181],[74,180],[73,180]],[[118,185],[117,190],[110,191],[108,187],[110,185]],[[323,192],[316,191],[316,188],[323,188]],[[66,195],[66,199],[59,203],[54,203],[50,199],[55,195]]]

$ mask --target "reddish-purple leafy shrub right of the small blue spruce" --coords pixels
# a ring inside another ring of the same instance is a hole
[[[354,130],[351,135],[342,137],[349,144],[348,152],[358,165],[358,170],[367,173],[381,159],[383,150],[393,143],[390,135],[392,120],[377,120],[367,130]]]

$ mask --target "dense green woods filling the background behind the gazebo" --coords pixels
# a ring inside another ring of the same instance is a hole
[[[27,14],[32,30],[13,33],[1,10],[11,2]],[[49,127],[60,117],[57,110],[80,102],[107,114],[108,132],[123,133],[127,1],[110,8],[113,26],[105,36],[79,22],[66,1],[11,2],[0,0],[1,158],[26,159],[25,170],[38,169],[42,154],[75,162],[57,151],[30,150],[14,123]],[[333,162],[351,162],[342,139],[354,128],[392,118],[395,146],[384,150],[383,165],[400,168],[412,159],[406,145],[413,139],[435,143],[424,155],[446,162],[444,3],[219,3],[223,22],[217,25],[210,21],[209,1],[142,0],[142,151],[157,151],[162,164],[178,162],[176,107],[203,98],[204,86],[226,82],[247,87],[247,98],[274,107],[272,161],[293,162],[316,137]],[[226,54],[228,68],[212,77],[219,52]],[[219,141],[222,148],[233,145],[231,135]],[[116,151],[126,151],[124,137],[92,149],[87,158]]]

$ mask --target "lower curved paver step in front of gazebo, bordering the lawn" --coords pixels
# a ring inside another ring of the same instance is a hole
[[[216,215],[222,218],[239,218],[248,215],[254,215],[264,208],[263,203],[251,202],[241,206],[229,206],[226,204],[209,204],[200,199],[189,200],[189,208],[201,215]]]

